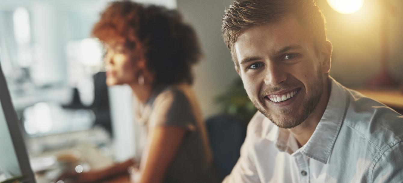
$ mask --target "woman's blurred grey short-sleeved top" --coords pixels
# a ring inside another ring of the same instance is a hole
[[[147,103],[151,114],[148,132],[157,125],[174,125],[188,130],[166,171],[164,183],[218,183],[206,126],[197,99],[187,84],[168,86]]]

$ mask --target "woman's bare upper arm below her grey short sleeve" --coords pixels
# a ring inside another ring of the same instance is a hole
[[[160,125],[150,134],[150,144],[141,158],[135,183],[161,183],[166,170],[175,157],[187,129],[179,126]]]

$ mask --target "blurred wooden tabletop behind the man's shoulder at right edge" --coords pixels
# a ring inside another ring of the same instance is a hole
[[[399,90],[368,90],[356,89],[359,93],[384,103],[388,107],[403,113],[403,92]]]

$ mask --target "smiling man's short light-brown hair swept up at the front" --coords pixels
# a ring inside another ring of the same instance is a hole
[[[295,16],[303,29],[312,35],[316,51],[326,41],[325,18],[314,0],[236,0],[225,10],[222,36],[237,66],[235,42],[243,30],[276,23]]]

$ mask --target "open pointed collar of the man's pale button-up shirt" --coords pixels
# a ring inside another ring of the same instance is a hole
[[[340,127],[346,110],[347,96],[344,87],[330,77],[332,89],[328,105],[318,126],[308,142],[299,148],[295,148],[296,142],[292,134],[286,129],[273,127],[269,134],[277,134],[275,139],[276,148],[282,152],[301,152],[301,154],[318,160],[324,164],[327,163],[332,151],[334,142],[339,134]],[[273,136],[272,136],[273,137]]]

